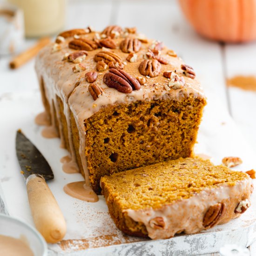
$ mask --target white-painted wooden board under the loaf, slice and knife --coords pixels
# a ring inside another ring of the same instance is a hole
[[[68,182],[82,180],[80,174],[65,174],[61,170],[60,158],[66,155],[59,148],[59,139],[45,139],[40,135],[41,129],[34,124],[34,116],[42,110],[39,92],[26,94],[9,94],[0,100],[0,109],[4,109],[0,133],[0,184],[7,210],[11,216],[19,217],[31,223],[25,182],[19,173],[19,165],[15,156],[15,132],[21,128],[24,133],[45,155],[54,171],[55,178],[48,182],[50,189],[60,204],[67,220],[67,235],[60,244],[49,245],[52,254],[70,255],[155,255],[171,251],[172,255],[197,255],[218,251],[225,243],[239,243],[249,246],[256,238],[253,230],[256,228],[256,204],[239,219],[225,225],[203,231],[195,235],[180,235],[167,240],[143,241],[140,238],[124,236],[116,229],[108,215],[105,200],[100,197],[97,203],[82,202],[63,192],[63,186]],[[199,143],[196,153],[213,156],[216,164],[226,155],[238,155],[244,160],[241,170],[253,168],[253,153],[243,140],[226,111],[221,111],[218,105],[209,104],[205,110]],[[223,124],[225,122],[225,124]],[[236,141],[233,138],[236,137]],[[255,199],[253,198],[253,202]],[[108,246],[107,246],[108,245]],[[107,247],[105,247],[107,246]],[[87,249],[87,250],[84,250]],[[77,251],[78,250],[78,251]]]

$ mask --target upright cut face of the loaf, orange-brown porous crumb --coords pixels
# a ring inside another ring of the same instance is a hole
[[[194,98],[137,101],[104,108],[86,120],[93,189],[100,191],[101,176],[191,156],[204,104]]]

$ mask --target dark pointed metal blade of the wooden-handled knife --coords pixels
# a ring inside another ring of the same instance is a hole
[[[25,180],[31,174],[42,175],[45,180],[54,178],[52,168],[44,156],[21,130],[16,133],[16,154]]]

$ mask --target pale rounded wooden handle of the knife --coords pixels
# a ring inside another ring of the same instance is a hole
[[[66,221],[54,195],[40,175],[27,178],[27,195],[36,229],[47,243],[57,243],[66,234]]]

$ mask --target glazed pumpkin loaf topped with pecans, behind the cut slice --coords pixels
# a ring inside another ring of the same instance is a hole
[[[118,26],[65,31],[36,72],[51,126],[95,192],[101,176],[192,155],[206,99],[162,42]]]

